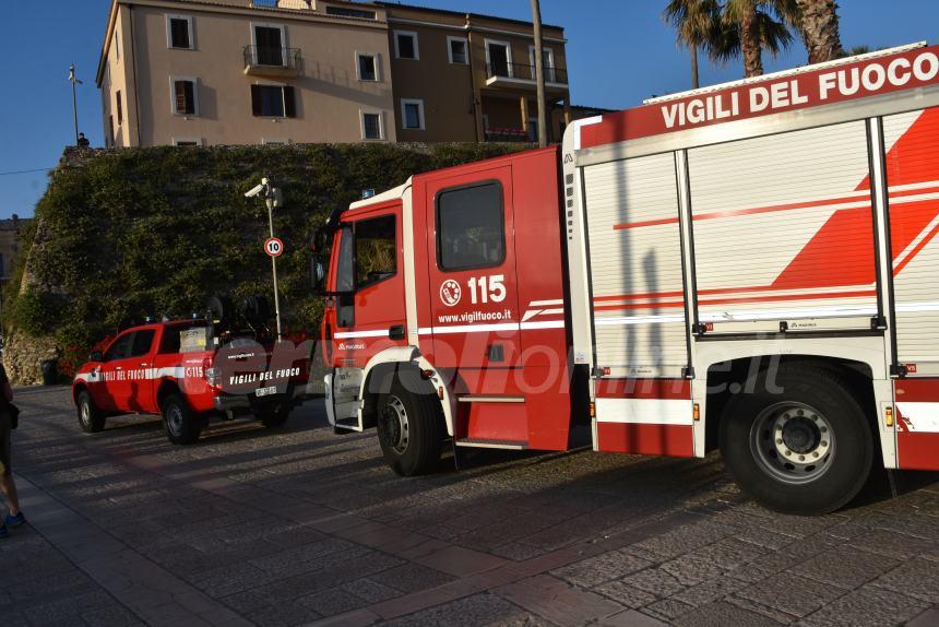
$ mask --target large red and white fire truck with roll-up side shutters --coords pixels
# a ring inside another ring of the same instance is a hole
[[[939,470],[939,47],[579,120],[328,230],[330,419],[401,474],[586,434],[818,513]]]

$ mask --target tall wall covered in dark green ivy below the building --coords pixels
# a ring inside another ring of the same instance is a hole
[[[335,206],[413,174],[520,150],[511,144],[311,144],[67,151],[22,234],[3,295],[8,333],[52,339],[66,370],[128,317],[188,316],[207,296],[271,293],[263,202],[243,193],[273,179],[284,192],[274,230],[285,326],[313,332],[308,242]]]

